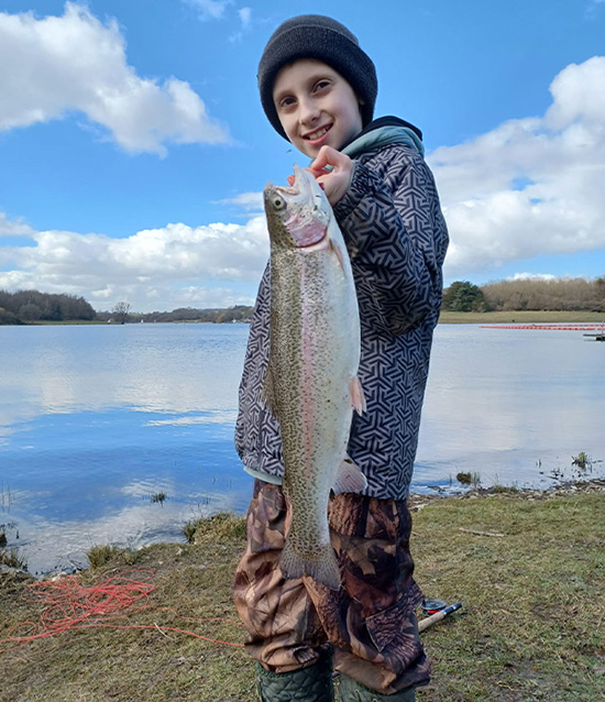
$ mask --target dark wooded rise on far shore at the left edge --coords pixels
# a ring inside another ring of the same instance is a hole
[[[84,297],[52,295],[37,290],[0,290],[0,325],[36,321],[91,321],[97,312]]]

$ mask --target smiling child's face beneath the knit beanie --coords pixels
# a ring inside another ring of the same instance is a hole
[[[295,61],[279,70],[273,101],[290,142],[311,158],[323,145],[340,150],[362,130],[353,88],[315,58]]]

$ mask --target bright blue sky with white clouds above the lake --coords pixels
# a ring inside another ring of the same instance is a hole
[[[605,0],[0,0],[0,289],[253,304],[262,190],[308,163],[256,68],[326,12],[424,132],[446,285],[605,275]]]

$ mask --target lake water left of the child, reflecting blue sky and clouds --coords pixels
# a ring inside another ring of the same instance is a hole
[[[0,328],[0,524],[30,570],[183,538],[245,509],[233,448],[248,326]],[[164,492],[162,504],[151,502]],[[18,538],[19,537],[19,538]]]

